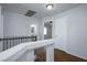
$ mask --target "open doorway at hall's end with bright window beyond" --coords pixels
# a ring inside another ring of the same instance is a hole
[[[52,39],[53,21],[44,22],[44,40]]]

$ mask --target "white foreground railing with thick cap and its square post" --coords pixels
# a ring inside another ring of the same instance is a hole
[[[46,61],[54,61],[54,41],[44,40],[36,42],[29,42],[19,44],[4,52],[0,53],[1,62],[34,62],[34,50],[39,47],[46,47]]]

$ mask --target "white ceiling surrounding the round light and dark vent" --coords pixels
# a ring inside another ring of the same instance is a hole
[[[52,10],[46,9],[46,3],[3,3],[2,8],[4,11],[25,14],[28,10],[36,11],[33,17],[43,18],[48,15],[54,15],[63,11],[69,10],[80,6],[79,3],[54,3]]]

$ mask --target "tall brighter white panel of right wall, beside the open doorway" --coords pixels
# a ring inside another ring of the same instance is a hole
[[[66,51],[67,48],[67,19],[68,17],[55,17],[55,32],[56,37],[55,48]]]

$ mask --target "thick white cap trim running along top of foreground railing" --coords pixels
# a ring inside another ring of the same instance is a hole
[[[46,45],[52,45],[53,43],[54,43],[53,40],[44,40],[44,41],[37,41],[37,42],[22,43],[22,44],[19,44],[17,46],[12,47],[12,48],[9,48],[4,52],[1,52],[0,53],[0,61],[1,62],[4,62],[4,61],[6,62],[13,62],[13,61],[17,61],[18,57],[20,57],[26,51],[29,51],[29,52],[31,50],[34,51],[34,48],[43,47],[43,46],[46,46]],[[31,55],[31,56],[33,56],[33,59],[34,59],[34,54]]]

